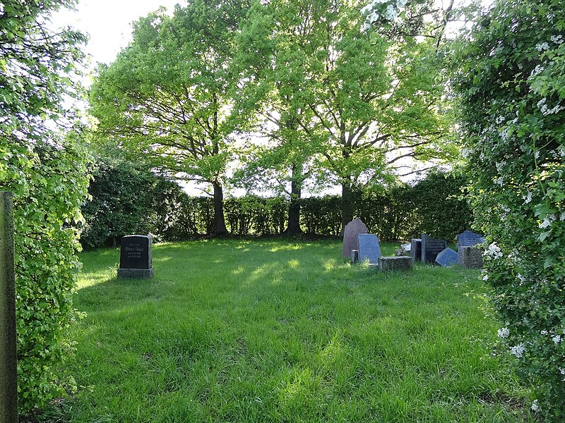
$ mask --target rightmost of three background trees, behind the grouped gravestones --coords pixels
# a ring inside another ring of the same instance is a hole
[[[355,188],[391,183],[408,157],[444,157],[434,39],[417,42],[399,32],[396,39],[369,36],[356,1],[255,7],[248,50],[265,66],[263,75],[247,79],[276,93],[270,116],[279,128],[295,124],[326,169],[319,176],[330,174],[342,186],[344,226],[352,219]]]

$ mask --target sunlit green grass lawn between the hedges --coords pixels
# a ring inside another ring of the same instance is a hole
[[[394,245],[381,245],[393,255]],[[83,253],[61,422],[528,422],[478,271],[351,266],[338,241]],[[53,417],[52,417],[53,418]]]

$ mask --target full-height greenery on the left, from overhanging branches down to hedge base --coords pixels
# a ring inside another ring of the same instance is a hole
[[[76,134],[61,133],[76,123],[62,100],[78,95],[71,78],[85,38],[45,25],[51,11],[69,5],[31,0],[0,7],[0,189],[14,192],[22,413],[60,396],[61,362],[71,350],[64,329],[74,317],[76,223],[88,178]]]

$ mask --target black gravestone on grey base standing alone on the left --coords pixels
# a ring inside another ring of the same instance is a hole
[[[128,235],[121,238],[119,278],[150,278],[153,276],[151,237]]]

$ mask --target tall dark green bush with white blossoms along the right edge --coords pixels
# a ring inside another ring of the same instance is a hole
[[[490,247],[484,279],[504,344],[535,386],[533,408],[565,418],[565,11],[497,1],[454,70],[470,198]]]

